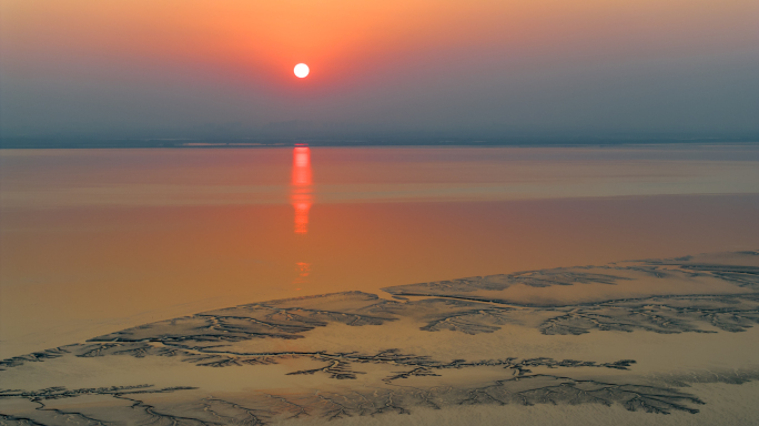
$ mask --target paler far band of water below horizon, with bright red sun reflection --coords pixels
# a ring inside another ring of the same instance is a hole
[[[311,158],[318,154],[318,185]],[[310,206],[759,193],[759,144],[0,152],[0,207]],[[97,176],[97,178],[93,178]]]

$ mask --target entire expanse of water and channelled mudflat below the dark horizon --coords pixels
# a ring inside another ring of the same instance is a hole
[[[759,145],[0,150],[2,425],[743,425]]]

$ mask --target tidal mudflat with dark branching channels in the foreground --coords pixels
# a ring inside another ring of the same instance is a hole
[[[208,311],[4,359],[2,422],[757,418],[757,251],[385,291],[393,297],[342,292]]]

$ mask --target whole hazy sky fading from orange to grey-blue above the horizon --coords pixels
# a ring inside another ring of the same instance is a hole
[[[756,135],[757,22],[756,0],[3,0],[0,132]]]

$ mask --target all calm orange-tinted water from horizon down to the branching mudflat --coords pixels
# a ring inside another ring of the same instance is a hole
[[[0,162],[0,357],[254,301],[759,247],[757,144]]]

